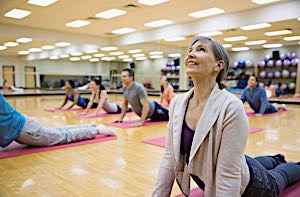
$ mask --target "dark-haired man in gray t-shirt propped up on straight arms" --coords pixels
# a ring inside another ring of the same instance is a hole
[[[132,126],[142,126],[147,118],[153,121],[169,120],[169,111],[157,102],[149,101],[146,89],[134,81],[134,71],[132,69],[123,69],[121,79],[124,84],[124,99],[121,117],[115,122],[123,121],[128,103],[131,105],[133,111],[141,117],[140,121],[134,123]]]

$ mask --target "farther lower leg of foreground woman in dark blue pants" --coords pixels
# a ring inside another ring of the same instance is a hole
[[[284,156],[281,154],[277,154],[274,156],[259,156],[253,159],[258,161],[267,170],[271,170],[282,163],[286,163]]]

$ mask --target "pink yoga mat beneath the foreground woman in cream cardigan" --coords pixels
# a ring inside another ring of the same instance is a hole
[[[281,194],[280,197],[299,197],[300,194],[300,181],[296,184],[287,187]],[[183,194],[177,195],[176,197],[184,197]],[[204,192],[195,188],[191,190],[190,197],[204,197]]]

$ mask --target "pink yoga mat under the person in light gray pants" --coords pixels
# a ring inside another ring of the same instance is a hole
[[[33,146],[27,146],[27,145],[19,144],[17,142],[13,142],[5,148],[0,148],[0,159],[7,158],[7,157],[15,157],[19,155],[27,155],[31,153],[38,153],[43,151],[49,151],[49,150],[55,150],[55,149],[61,149],[61,148],[68,148],[73,146],[80,146],[83,144],[92,144],[92,143],[115,140],[115,139],[117,139],[117,137],[115,136],[106,136],[100,134],[97,135],[95,139],[82,140],[78,142],[72,142],[69,144],[60,144],[60,145],[47,146],[47,147],[33,147]]]

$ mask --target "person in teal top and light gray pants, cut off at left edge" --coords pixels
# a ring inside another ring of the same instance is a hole
[[[104,125],[72,125],[46,128],[38,121],[16,111],[0,94],[0,146],[16,141],[32,146],[53,146],[93,139],[97,134],[115,135]]]

